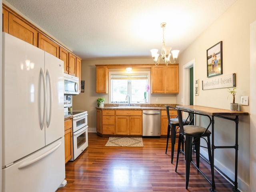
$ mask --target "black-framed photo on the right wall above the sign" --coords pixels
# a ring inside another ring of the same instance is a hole
[[[222,41],[218,42],[206,51],[207,77],[222,74]]]

